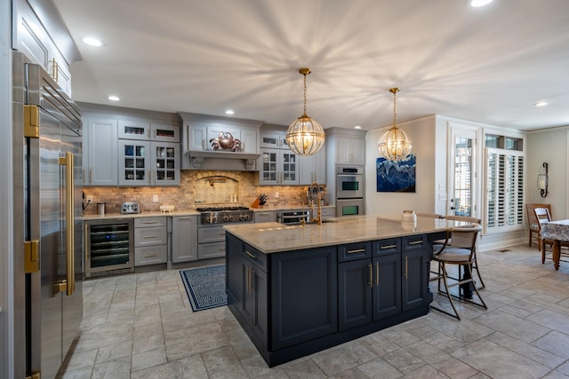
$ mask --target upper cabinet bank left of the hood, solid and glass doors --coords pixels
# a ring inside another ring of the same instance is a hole
[[[161,113],[80,106],[88,110],[84,113],[84,186],[180,185],[178,120],[168,124],[167,115]]]

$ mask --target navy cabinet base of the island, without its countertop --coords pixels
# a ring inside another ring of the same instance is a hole
[[[425,235],[264,254],[225,246],[228,306],[269,367],[429,312]]]

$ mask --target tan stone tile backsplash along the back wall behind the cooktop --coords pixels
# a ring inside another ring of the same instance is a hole
[[[93,197],[93,204],[84,213],[96,214],[98,202],[106,202],[107,213],[120,213],[124,201],[138,201],[142,212],[158,211],[164,204],[175,209],[193,209],[199,203],[249,207],[260,193],[268,195],[266,207],[297,206],[306,201],[307,186],[255,186],[256,175],[250,171],[182,170],[180,186],[84,187],[85,196]],[[153,201],[155,195],[157,202]]]

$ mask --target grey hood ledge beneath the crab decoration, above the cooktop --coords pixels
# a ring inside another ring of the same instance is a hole
[[[182,169],[187,170],[256,170],[260,154],[224,151],[188,150],[184,152]]]

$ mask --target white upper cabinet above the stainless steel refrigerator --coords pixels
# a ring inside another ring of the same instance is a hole
[[[12,6],[16,18],[12,47],[44,67],[71,97],[69,66],[81,60],[81,54],[60,13],[52,1],[16,0]]]

